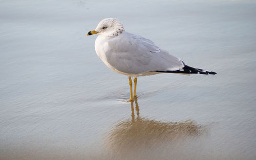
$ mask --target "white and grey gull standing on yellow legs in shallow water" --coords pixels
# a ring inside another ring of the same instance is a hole
[[[89,35],[98,34],[95,40],[95,51],[99,58],[111,70],[128,76],[130,99],[136,97],[137,77],[159,73],[204,74],[215,75],[215,72],[205,71],[186,65],[179,58],[160,49],[153,41],[140,35],[125,32],[117,18],[101,20],[95,30]],[[134,77],[134,92],[133,81]]]

